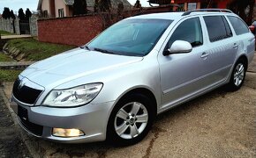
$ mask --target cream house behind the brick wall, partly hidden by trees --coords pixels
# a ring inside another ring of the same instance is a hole
[[[127,0],[110,0],[111,7],[117,8],[119,3],[124,4],[124,8],[132,5]],[[87,11],[94,12],[95,0],[87,0]],[[39,0],[37,11],[41,12],[43,18],[63,18],[72,17],[74,0]]]

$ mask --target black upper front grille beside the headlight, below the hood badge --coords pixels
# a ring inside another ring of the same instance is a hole
[[[12,93],[15,98],[25,104],[34,104],[37,97],[41,94],[42,90],[35,90],[27,87],[26,85],[20,86],[19,78],[13,84]]]

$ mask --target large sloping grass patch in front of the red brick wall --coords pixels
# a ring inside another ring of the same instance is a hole
[[[55,54],[60,54],[74,47],[40,42],[36,39],[11,39],[10,47],[16,47],[22,54],[26,54],[26,61],[41,61]]]

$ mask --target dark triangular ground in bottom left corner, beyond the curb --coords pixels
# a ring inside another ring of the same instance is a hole
[[[31,157],[0,96],[0,157]]]

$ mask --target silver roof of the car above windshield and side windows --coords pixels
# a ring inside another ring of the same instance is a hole
[[[185,12],[162,12],[162,13],[149,13],[139,16],[134,16],[129,19],[134,18],[156,18],[156,19],[169,19],[169,20],[179,20],[181,18],[190,17],[194,15],[236,15],[230,12],[216,12],[216,11],[198,11],[191,12],[188,15],[184,15]]]

